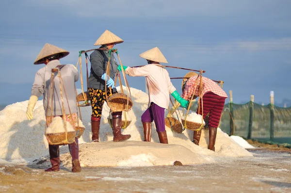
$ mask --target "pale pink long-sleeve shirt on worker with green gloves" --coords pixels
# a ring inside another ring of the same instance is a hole
[[[170,102],[169,94],[176,91],[173,86],[169,73],[161,67],[161,64],[147,64],[142,67],[128,67],[125,73],[131,77],[146,77],[146,86],[148,89],[148,105],[151,102],[167,109]]]

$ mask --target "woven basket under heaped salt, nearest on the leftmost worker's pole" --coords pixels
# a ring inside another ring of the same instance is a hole
[[[47,133],[49,145],[66,145],[75,141],[76,131],[67,132],[67,141],[65,139],[65,132],[62,133]]]

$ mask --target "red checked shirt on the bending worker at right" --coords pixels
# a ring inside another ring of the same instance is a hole
[[[191,99],[192,94],[194,92],[194,83],[196,79],[197,79],[197,76],[194,76],[188,79],[185,85],[184,92],[181,95],[182,98],[186,100]],[[194,93],[195,96],[199,96],[199,84],[200,84],[200,81],[197,82],[197,87]],[[210,80],[209,78],[202,77],[202,96],[207,92],[212,92],[218,96],[227,98],[226,92],[224,92],[224,90],[220,88],[220,86],[217,83],[215,83],[213,80]]]

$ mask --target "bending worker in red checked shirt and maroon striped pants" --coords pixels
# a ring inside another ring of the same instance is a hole
[[[197,82],[196,90],[194,91],[195,82],[197,80],[197,74],[193,73],[192,77],[186,80],[183,83],[183,94],[181,95],[182,98],[186,100],[190,100],[193,93],[194,98],[199,96],[199,85],[200,85],[200,79]],[[214,145],[216,140],[216,132],[217,127],[219,125],[220,117],[222,110],[224,108],[224,103],[227,98],[226,92],[220,88],[220,86],[215,83],[213,80],[210,80],[209,78],[202,77],[202,99],[203,99],[203,119],[206,117],[206,115],[209,113],[209,146],[208,149],[215,151]],[[201,98],[199,99],[199,102],[201,104]],[[173,113],[174,109],[177,109],[179,105],[174,105],[173,109],[171,110],[171,113]],[[175,110],[174,110],[175,111]],[[202,105],[200,105],[200,111],[197,112],[202,115]],[[201,136],[201,130],[200,131],[194,131],[194,141],[193,143],[196,145],[199,145]]]

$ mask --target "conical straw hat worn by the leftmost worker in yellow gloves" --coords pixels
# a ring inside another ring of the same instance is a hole
[[[51,56],[51,55],[54,55],[54,54],[59,54],[59,59],[60,58],[64,58],[65,56],[67,56],[70,52],[68,52],[67,50],[65,49],[62,49],[62,48],[59,48],[59,47],[56,47],[54,45],[51,45],[51,44],[46,44],[42,49],[41,51],[39,52],[38,56],[36,57],[35,61],[33,64],[43,64],[44,61],[43,59],[48,57],[48,56]]]

